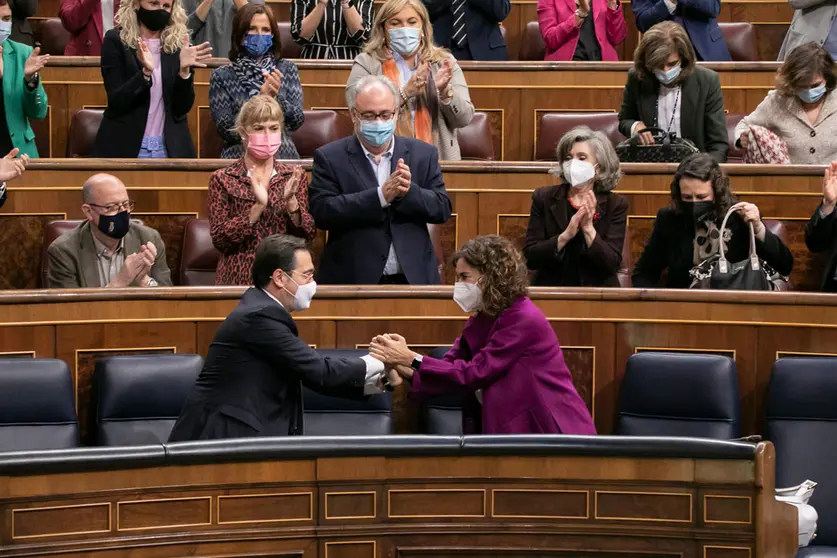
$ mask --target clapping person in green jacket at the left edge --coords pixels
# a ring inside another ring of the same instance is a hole
[[[42,120],[47,115],[47,96],[38,72],[49,62],[49,55],[40,49],[9,39],[12,32],[12,9],[0,4],[0,80],[3,84],[0,112],[0,153],[17,148],[35,158],[35,133],[29,120]],[[47,154],[49,155],[49,154]]]

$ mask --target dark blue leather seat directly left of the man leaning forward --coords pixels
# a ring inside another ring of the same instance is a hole
[[[202,366],[199,355],[187,354],[96,361],[91,405],[96,445],[165,443]]]

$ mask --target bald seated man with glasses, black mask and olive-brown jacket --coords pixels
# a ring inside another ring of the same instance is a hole
[[[152,228],[131,221],[133,200],[121,180],[91,176],[82,188],[87,217],[47,249],[47,287],[171,286],[166,247]]]

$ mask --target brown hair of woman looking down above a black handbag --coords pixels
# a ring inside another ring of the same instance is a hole
[[[634,51],[634,70],[640,81],[656,79],[654,70],[661,70],[668,57],[680,56],[680,75],[674,83],[682,83],[695,69],[697,55],[686,30],[673,21],[658,23],[642,35]]]

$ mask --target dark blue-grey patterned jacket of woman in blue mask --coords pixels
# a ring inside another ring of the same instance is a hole
[[[223,159],[238,159],[244,153],[241,138],[233,128],[241,106],[258,91],[250,91],[238,80],[233,64],[221,66],[209,78],[209,112],[224,140]],[[276,153],[277,159],[299,159],[290,132],[302,126],[305,116],[302,112],[302,85],[299,83],[299,69],[290,60],[279,58],[276,69],[282,72],[282,87],[276,100],[285,113],[285,129],[282,131],[282,147]]]

